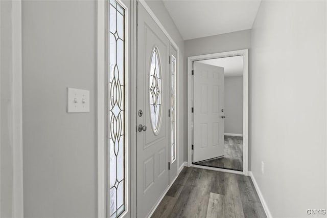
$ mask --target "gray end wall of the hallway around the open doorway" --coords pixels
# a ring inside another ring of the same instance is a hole
[[[226,33],[215,36],[208,36],[203,38],[196,38],[185,40],[185,58],[184,58],[184,71],[185,75],[183,80],[187,80],[187,58],[195,55],[203,55],[203,54],[211,54],[218,52],[226,52],[226,51],[234,51],[241,49],[249,49],[249,169],[251,169],[250,160],[251,160],[251,30],[242,30],[238,32]],[[187,95],[187,87],[184,90],[184,96]],[[185,101],[187,99],[185,98]],[[186,102],[187,103],[187,102]],[[184,113],[185,116],[185,129],[187,125],[187,114]],[[185,133],[187,134],[187,133]],[[187,140],[185,141],[187,142]],[[184,154],[187,153],[187,144],[185,143]],[[187,160],[187,155],[184,156],[185,161]]]

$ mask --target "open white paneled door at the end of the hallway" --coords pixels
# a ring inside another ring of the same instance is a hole
[[[193,162],[224,155],[224,68],[193,65]]]

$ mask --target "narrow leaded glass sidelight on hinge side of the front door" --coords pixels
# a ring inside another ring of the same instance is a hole
[[[172,163],[176,160],[175,147],[175,74],[176,74],[176,58],[172,55],[171,62],[171,159]]]

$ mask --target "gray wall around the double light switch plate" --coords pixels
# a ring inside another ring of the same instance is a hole
[[[97,216],[96,2],[22,1],[25,217]],[[90,113],[66,113],[66,88]]]

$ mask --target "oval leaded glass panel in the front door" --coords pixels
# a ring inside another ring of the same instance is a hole
[[[150,88],[149,88],[149,102],[150,102],[150,118],[152,129],[155,134],[158,134],[161,120],[161,67],[158,50],[155,48],[152,52],[151,66],[150,66]]]

